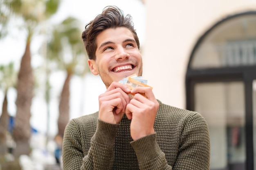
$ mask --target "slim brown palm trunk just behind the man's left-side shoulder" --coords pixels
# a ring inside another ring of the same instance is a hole
[[[67,77],[61,92],[61,100],[59,103],[59,117],[58,117],[58,135],[63,137],[65,126],[69,121],[70,110],[70,79],[71,74],[67,72]]]

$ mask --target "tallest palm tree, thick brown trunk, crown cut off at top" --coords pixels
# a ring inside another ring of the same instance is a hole
[[[33,69],[31,67],[30,44],[37,26],[54,14],[59,6],[59,0],[2,0],[8,9],[9,18],[19,17],[24,21],[27,31],[25,52],[20,62],[17,83],[17,112],[13,138],[16,141],[15,157],[21,154],[29,154],[30,128],[30,107],[33,98]]]

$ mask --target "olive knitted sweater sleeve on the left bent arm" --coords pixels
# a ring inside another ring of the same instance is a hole
[[[63,170],[112,169],[115,136],[119,124],[98,120],[87,155],[83,155],[81,131],[74,121],[66,126],[63,140]]]

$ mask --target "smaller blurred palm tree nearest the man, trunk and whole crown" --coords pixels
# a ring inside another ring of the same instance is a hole
[[[79,21],[74,17],[68,17],[54,28],[52,39],[47,46],[48,59],[58,63],[58,68],[66,73],[59,101],[58,117],[58,135],[62,137],[70,118],[69,101],[72,75],[83,75],[89,70],[85,64],[85,49],[81,40],[81,32]]]

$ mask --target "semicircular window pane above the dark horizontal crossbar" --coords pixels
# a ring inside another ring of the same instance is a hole
[[[256,65],[256,14],[230,18],[213,27],[193,54],[192,69]]]

